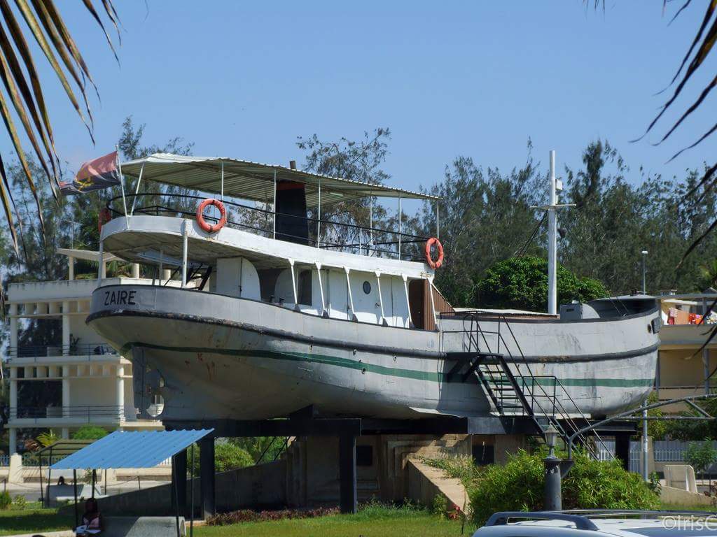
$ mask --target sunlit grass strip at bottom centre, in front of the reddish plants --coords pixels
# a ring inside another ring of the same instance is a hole
[[[460,521],[442,520],[428,511],[374,508],[356,515],[204,526],[195,528],[194,534],[197,537],[444,537],[460,536],[460,527]],[[470,523],[466,523],[464,534],[470,536],[473,531]]]

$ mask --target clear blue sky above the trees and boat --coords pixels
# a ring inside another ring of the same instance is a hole
[[[640,165],[681,175],[715,147],[708,140],[665,164],[711,126],[710,101],[668,144],[650,145],[668,123],[629,142],[662,104],[655,92],[686,51],[701,2],[670,26],[677,3],[663,14],[657,0],[611,0],[604,13],[580,0],[115,3],[121,67],[82,4],[59,4],[102,98],[93,102],[92,147],[44,69],[71,169],[112,150],[127,115],[146,123],[146,142],[181,136],[196,155],[284,165],[302,161],[298,135],[335,140],[390,127],[386,171],[392,185],[412,189],[440,180],[457,155],[519,166],[528,137],[543,165],[556,149],[560,168],[579,165],[585,145],[607,137],[633,180]]]

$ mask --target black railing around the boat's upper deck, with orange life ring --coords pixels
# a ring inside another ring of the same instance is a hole
[[[146,198],[148,203],[138,202]],[[125,196],[128,205],[133,206],[134,213],[148,214],[152,216],[176,216],[179,218],[195,218],[196,205],[203,196],[189,194],[163,194],[163,193],[137,193]],[[124,216],[123,208],[115,208],[114,205],[121,203],[122,197],[118,196],[108,201],[107,208],[113,216]],[[132,203],[130,204],[130,201]],[[196,205],[187,203],[192,200]],[[176,201],[176,203],[174,203]],[[137,205],[137,203],[141,203]],[[306,241],[310,246],[328,248],[336,251],[347,251],[351,253],[366,253],[389,258],[400,258],[409,261],[423,261],[422,246],[427,237],[414,235],[412,233],[399,233],[377,226],[361,226],[359,224],[338,222],[326,218],[310,218],[308,216],[296,216],[287,213],[275,213],[269,209],[252,207],[242,203],[235,203],[224,200],[222,203],[227,207],[227,226],[231,228],[250,231],[260,236],[273,237],[275,234],[274,218],[280,216],[282,219],[295,219],[298,223],[305,223],[308,228],[308,237],[293,236],[287,231],[276,231],[277,236],[283,236],[297,241]],[[119,207],[119,205],[118,205]],[[205,215],[204,220],[217,223],[216,216]]]

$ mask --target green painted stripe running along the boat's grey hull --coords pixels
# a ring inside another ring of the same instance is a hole
[[[369,364],[366,362],[358,362],[356,360],[329,356],[327,354],[307,354],[304,352],[276,352],[258,349],[212,349],[209,347],[171,347],[168,345],[156,345],[148,343],[128,343],[125,344],[120,354],[126,355],[134,347],[143,347],[145,349],[157,349],[172,352],[196,352],[209,354],[222,354],[224,356],[235,357],[256,357],[269,358],[277,360],[287,360],[291,362],[310,362],[313,364],[333,365],[336,367],[345,367],[347,369],[356,369],[366,372],[383,374],[389,377],[401,377],[404,379],[424,380],[428,382],[445,382],[447,374],[440,372],[417,371],[416,369],[401,369],[399,367],[386,367],[378,364]],[[520,377],[516,377],[520,378]],[[518,382],[520,382],[518,380]],[[552,386],[554,381],[547,378],[536,378],[536,384],[546,384]],[[610,387],[610,388],[634,388],[652,386],[655,379],[606,379],[606,378],[575,378],[561,379],[563,386],[576,387]],[[527,384],[527,383],[526,383]]]

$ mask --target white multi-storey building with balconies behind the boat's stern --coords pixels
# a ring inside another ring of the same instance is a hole
[[[70,249],[57,253],[67,256],[67,280],[9,285],[10,341],[5,366],[10,371],[10,408],[5,427],[9,429],[10,453],[22,450],[18,432],[23,429],[51,428],[67,438],[84,425],[107,430],[161,428],[161,422],[136,417],[131,362],[85,324],[98,280],[75,279],[75,259],[97,261],[99,253]],[[105,254],[103,259],[105,276],[106,263],[115,257]],[[133,266],[133,276],[103,283],[151,283],[139,279],[138,265]],[[61,319],[62,341],[19,345],[24,319]],[[24,389],[30,382],[44,384],[41,389]]]

